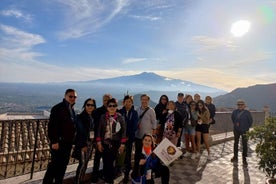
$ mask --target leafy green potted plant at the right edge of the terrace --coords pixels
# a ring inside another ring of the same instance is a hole
[[[257,142],[258,165],[268,177],[266,182],[276,184],[276,117],[268,117],[263,125],[249,131],[248,136]]]

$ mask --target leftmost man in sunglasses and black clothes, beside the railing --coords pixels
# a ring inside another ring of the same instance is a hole
[[[51,162],[43,178],[43,184],[62,183],[75,137],[75,111],[77,93],[74,89],[65,91],[64,99],[51,109],[48,124]]]

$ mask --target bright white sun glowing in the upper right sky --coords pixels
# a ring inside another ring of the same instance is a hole
[[[235,37],[241,37],[249,31],[250,25],[251,23],[247,20],[239,20],[234,22],[231,26],[231,33]]]

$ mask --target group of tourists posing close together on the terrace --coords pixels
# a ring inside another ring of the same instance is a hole
[[[98,108],[93,98],[86,99],[80,114],[76,114],[73,108],[76,99],[77,92],[67,89],[63,101],[51,109],[48,124],[51,161],[44,184],[62,183],[70,157],[79,160],[75,183],[83,183],[87,163],[92,156],[91,183],[97,183],[99,178],[106,183],[114,183],[117,172],[122,171],[121,183],[154,183],[155,177],[161,177],[162,184],[168,184],[169,168],[153,153],[164,138],[177,147],[184,147],[183,156],[191,156],[191,159],[200,156],[201,144],[204,143],[207,159],[211,160],[209,127],[215,123],[216,108],[210,96],[203,101],[199,94],[184,96],[178,93],[177,100],[173,101],[162,95],[153,108],[149,106],[150,97],[142,94],[141,104],[135,109],[133,97],[126,95],[119,109],[118,101],[105,94],[103,105]],[[231,161],[236,160],[235,151]]]

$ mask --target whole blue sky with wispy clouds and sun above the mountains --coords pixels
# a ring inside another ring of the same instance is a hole
[[[0,82],[154,72],[232,91],[276,82],[275,44],[274,0],[0,2]]]

